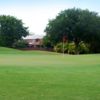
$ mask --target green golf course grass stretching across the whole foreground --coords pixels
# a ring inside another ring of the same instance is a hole
[[[100,54],[0,48],[0,100],[100,100]]]

